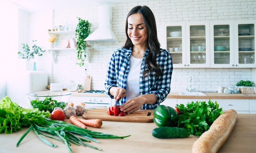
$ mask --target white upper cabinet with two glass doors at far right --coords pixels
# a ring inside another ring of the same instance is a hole
[[[210,22],[211,68],[254,68],[256,21]]]

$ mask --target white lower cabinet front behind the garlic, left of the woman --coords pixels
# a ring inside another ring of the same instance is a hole
[[[70,102],[75,105],[83,102],[86,108],[108,108],[112,106],[112,99],[109,97],[71,96]]]

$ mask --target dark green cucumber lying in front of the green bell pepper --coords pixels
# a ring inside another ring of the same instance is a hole
[[[189,137],[190,131],[184,128],[162,126],[152,130],[153,137],[157,138],[174,138]]]

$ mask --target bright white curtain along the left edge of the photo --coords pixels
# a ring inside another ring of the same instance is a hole
[[[18,60],[18,11],[16,5],[0,0],[0,99],[6,96],[6,77],[16,71]],[[17,76],[18,77],[18,76]]]

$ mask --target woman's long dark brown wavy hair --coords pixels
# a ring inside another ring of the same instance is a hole
[[[137,6],[132,8],[126,18],[126,42],[124,44],[124,48],[130,49],[130,47],[133,47],[132,41],[130,40],[127,30],[128,30],[128,18],[130,15],[135,13],[141,13],[143,23],[147,29],[148,33],[148,47],[150,48],[150,51],[148,52],[147,58],[145,60],[145,64],[147,66],[146,70],[142,72],[143,76],[145,77],[146,74],[152,72],[155,70],[155,75],[159,77],[162,74],[162,70],[158,67],[158,64],[156,63],[156,56],[157,53],[160,51],[160,43],[157,38],[157,26],[155,23],[155,16],[153,12],[150,10],[147,6]]]

